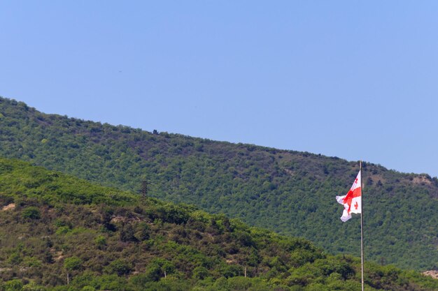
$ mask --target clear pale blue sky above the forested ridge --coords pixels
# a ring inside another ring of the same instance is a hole
[[[0,96],[438,176],[438,1],[1,1]]]

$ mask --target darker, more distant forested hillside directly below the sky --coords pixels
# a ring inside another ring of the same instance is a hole
[[[148,118],[145,116],[144,118]],[[195,204],[330,253],[360,252],[358,217],[342,223],[344,195],[358,163],[250,144],[43,114],[0,98],[0,156],[76,177]],[[413,269],[438,269],[438,180],[364,165],[365,255]]]

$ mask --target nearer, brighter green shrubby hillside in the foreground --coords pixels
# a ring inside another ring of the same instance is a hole
[[[17,160],[0,158],[0,181],[0,290],[360,290],[358,258],[304,239]],[[365,283],[369,291],[438,288],[374,263]]]

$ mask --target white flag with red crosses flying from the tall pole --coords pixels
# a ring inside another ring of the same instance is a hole
[[[337,202],[344,205],[344,212],[341,216],[341,221],[348,221],[351,218],[351,214],[361,214],[362,213],[362,188],[360,183],[360,171],[358,177],[354,180],[353,186],[351,186],[350,191],[347,195],[336,196]]]

